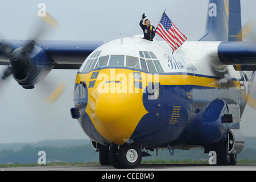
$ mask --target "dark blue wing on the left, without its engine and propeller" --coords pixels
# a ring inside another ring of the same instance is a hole
[[[4,45],[13,49],[26,46],[27,40],[6,40]],[[36,45],[46,52],[47,60],[40,60],[41,64],[52,64],[53,69],[79,69],[86,57],[97,47],[104,44],[99,41],[38,41]],[[1,51],[0,46],[0,65],[10,65],[9,57]],[[40,59],[40,58],[39,58]]]

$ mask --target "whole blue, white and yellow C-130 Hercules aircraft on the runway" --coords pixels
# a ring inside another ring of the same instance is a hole
[[[141,36],[107,43],[3,40],[2,79],[32,89],[52,69],[79,69],[72,118],[101,165],[136,168],[148,150],[215,151],[234,165],[254,81],[256,44],[242,42],[240,0],[210,0],[207,32],[173,53]],[[85,59],[86,58],[86,59]],[[85,59],[85,60],[84,60]]]

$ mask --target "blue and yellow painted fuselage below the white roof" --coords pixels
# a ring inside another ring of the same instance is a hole
[[[90,71],[80,69],[74,102],[89,138],[105,145],[138,143],[154,148],[168,143],[183,148],[220,142],[228,129],[239,129],[247,97],[241,81],[247,80],[232,74],[199,74],[198,65],[189,62],[189,68],[185,61],[172,59],[173,64],[165,60],[167,68],[180,68],[176,72],[151,73],[139,69],[141,62],[130,68],[110,66],[110,61],[106,67],[98,61]],[[226,122],[231,110],[237,118]]]

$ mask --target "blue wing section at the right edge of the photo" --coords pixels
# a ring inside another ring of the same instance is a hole
[[[237,71],[256,71],[256,43],[221,42],[218,57],[226,65],[234,65]]]

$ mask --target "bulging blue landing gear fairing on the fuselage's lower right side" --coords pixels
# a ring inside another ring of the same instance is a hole
[[[237,137],[240,129],[240,107],[235,101],[217,98],[205,106],[198,118],[203,122],[199,124],[195,141],[205,145],[224,142],[227,131],[234,131],[234,136],[231,135],[240,140]]]

